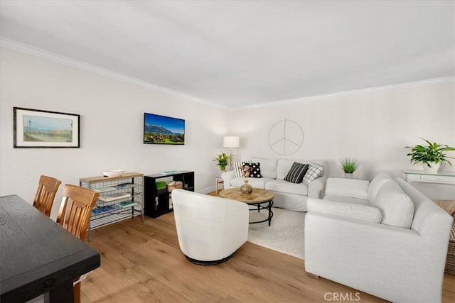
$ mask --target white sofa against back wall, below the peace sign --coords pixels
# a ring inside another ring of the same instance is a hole
[[[321,198],[326,184],[325,163],[323,160],[291,160],[291,159],[269,159],[269,158],[245,158],[242,161],[259,162],[262,177],[248,178],[248,184],[254,188],[266,189],[274,194],[273,206],[292,211],[306,211],[306,200],[308,197]],[[287,173],[294,162],[309,164],[314,162],[324,167],[321,176],[310,182],[308,185],[284,181]],[[223,172],[221,175],[225,189],[240,187],[244,184],[243,177],[235,177],[235,172]]]

